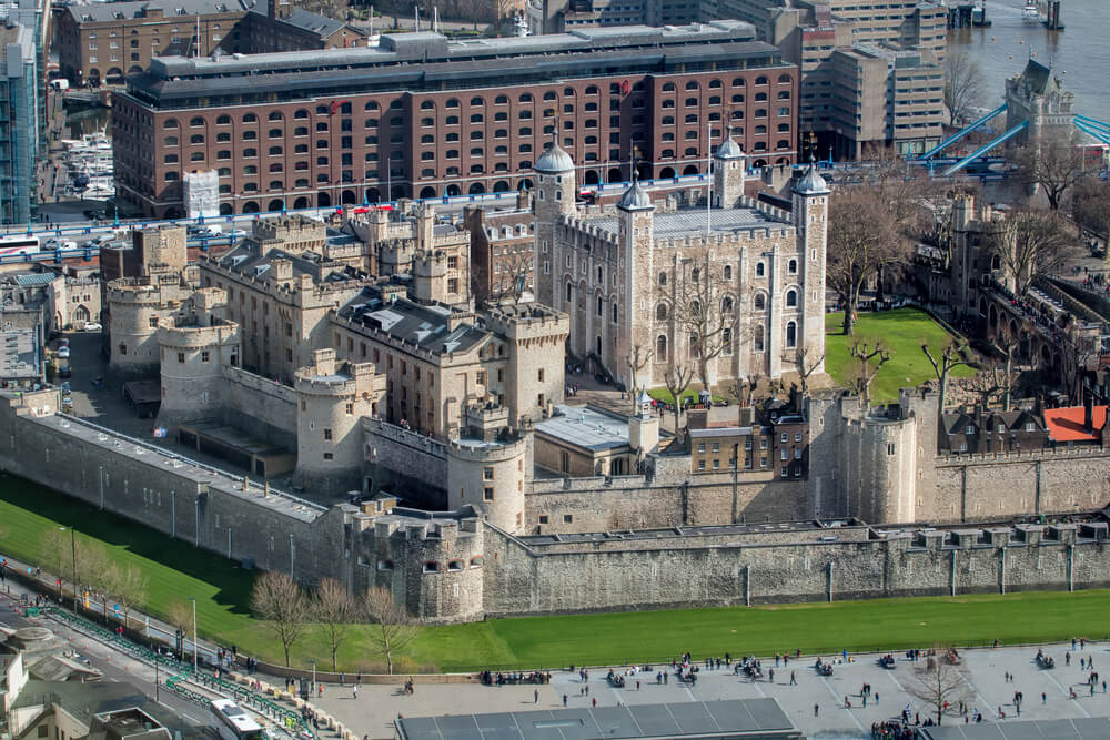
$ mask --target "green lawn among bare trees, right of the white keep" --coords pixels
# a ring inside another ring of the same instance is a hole
[[[854,337],[844,335],[844,313],[825,316],[825,369],[833,379],[847,387],[858,361],[849,355]],[[871,344],[881,339],[890,349],[890,362],[871,382],[871,401],[897,401],[898,389],[916,386],[936,377],[932,365],[921,352],[928,344],[934,357],[951,336],[945,327],[917,308],[897,308],[878,313],[860,313],[855,336]],[[958,367],[951,377],[967,377],[975,371]]]

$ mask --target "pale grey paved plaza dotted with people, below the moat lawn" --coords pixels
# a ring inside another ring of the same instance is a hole
[[[1110,696],[1103,693],[1102,677],[1094,696],[1090,695],[1087,677],[1091,672],[1080,669],[1079,659],[1092,658],[1093,671],[1106,668],[1110,680],[1110,646],[1088,643],[1086,649],[1071,652],[1071,645],[1045,647],[1046,655],[1056,658],[1057,668],[1042,670],[1036,662],[1037,647],[998,648],[967,650],[962,652],[960,670],[963,672],[975,697],[973,708],[985,716],[985,721],[1010,722],[1018,720],[1013,706],[1013,695],[1021,691],[1025,700],[1020,720],[1047,720],[1083,717],[1110,717]],[[1071,652],[1071,665],[1066,665],[1064,653]],[[824,656],[829,660],[829,656]],[[679,701],[707,701],[715,699],[748,699],[774,697],[806,737],[809,738],[862,738],[870,737],[871,724],[891,720],[899,716],[907,704],[914,712],[920,712],[925,721],[928,707],[912,699],[906,686],[914,679],[915,663],[905,655],[897,656],[892,670],[878,665],[878,656],[854,656],[854,662],[836,665],[834,675],[821,677],[814,670],[816,656],[803,656],[788,666],[775,669],[774,681],[768,680],[769,668],[775,660],[764,660],[764,678],[751,681],[733,675],[731,669],[699,671],[695,687],[674,680],[666,685],[656,683],[656,666],[650,673],[627,677],[623,689],[612,688],[606,680],[606,669],[589,670],[585,683],[577,671],[553,672],[549,685],[487,687],[477,683],[421,685],[415,692],[406,696],[400,686],[363,685],[359,698],[352,696],[351,687],[326,685],[323,698],[314,699],[324,711],[333,714],[352,731],[373,739],[393,738],[393,720],[397,714],[405,717],[430,717],[436,714],[485,713],[526,711],[528,709],[562,708],[566,695],[567,707],[585,707],[597,700],[599,707],[617,703],[667,703]],[[695,656],[697,662],[697,656]],[[698,663],[700,665],[700,663]],[[925,658],[918,666],[925,665]],[[626,670],[626,669],[622,669]],[[790,685],[794,672],[797,685]],[[1006,675],[1013,676],[1012,681]],[[639,681],[639,688],[636,681]],[[864,683],[871,685],[872,697],[862,706],[860,690]],[[588,688],[588,696],[584,690]],[[1077,698],[1069,698],[1069,689],[1074,689]],[[536,698],[538,692],[538,699]],[[1041,700],[1045,693],[1045,700]],[[876,701],[875,695],[878,695]],[[844,708],[845,697],[851,709]],[[814,704],[818,704],[818,716],[814,716]],[[1001,709],[1005,719],[999,719]],[[946,718],[945,722],[956,719]],[[959,720],[962,721],[962,720]]]

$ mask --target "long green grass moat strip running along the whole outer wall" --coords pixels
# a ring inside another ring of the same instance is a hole
[[[280,646],[248,611],[252,572],[21,478],[0,477],[0,553],[48,567],[44,535],[71,524],[80,537],[104,543],[112,558],[143,569],[152,612],[164,615],[170,602],[195,596],[203,635],[281,661]],[[700,658],[801,649],[808,661],[841,649],[1103,639],[1108,611],[1110,591],[1092,590],[490,619],[423,628],[410,646],[412,662],[400,670],[658,663],[684,651]],[[367,630],[352,630],[341,668],[373,670],[381,662]],[[314,631],[297,646],[293,665],[303,668],[313,655],[322,667],[329,662]]]

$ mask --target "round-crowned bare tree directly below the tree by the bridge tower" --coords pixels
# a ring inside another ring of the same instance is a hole
[[[1053,211],[1025,209],[1003,220],[990,234],[991,249],[1023,296],[1033,278],[1062,267],[1076,253],[1076,242]]]

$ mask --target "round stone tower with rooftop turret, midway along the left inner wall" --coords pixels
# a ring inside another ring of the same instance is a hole
[[[313,364],[294,375],[296,472],[309,497],[333,500],[361,490],[362,417],[384,389],[371,363],[337,363],[334,349],[316,349]]]

